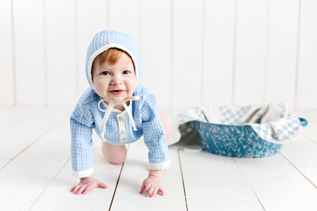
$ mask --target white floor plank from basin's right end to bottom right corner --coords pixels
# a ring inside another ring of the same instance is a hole
[[[317,189],[281,154],[234,159],[265,210],[317,210]]]

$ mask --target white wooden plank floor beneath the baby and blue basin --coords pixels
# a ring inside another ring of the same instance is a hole
[[[123,165],[109,164],[94,140],[94,177],[108,189],[74,195],[71,108],[0,108],[0,210],[317,210],[317,112],[300,139],[268,158],[229,158],[170,149],[166,195],[140,195],[147,177],[142,140]],[[165,109],[165,113],[169,113]],[[171,116],[169,116],[171,119]]]

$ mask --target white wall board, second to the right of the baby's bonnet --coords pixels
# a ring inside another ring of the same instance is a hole
[[[203,1],[173,4],[171,104],[198,106],[201,100]]]

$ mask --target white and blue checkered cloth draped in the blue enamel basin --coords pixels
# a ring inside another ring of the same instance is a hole
[[[177,115],[178,126],[189,121],[223,125],[249,125],[257,135],[271,143],[282,144],[301,136],[302,126],[296,115],[287,115],[287,104],[270,103],[262,107],[221,106],[186,110]],[[260,123],[261,122],[261,123]]]

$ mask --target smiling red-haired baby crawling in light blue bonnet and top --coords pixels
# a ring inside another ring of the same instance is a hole
[[[170,165],[167,140],[169,123],[153,93],[139,83],[139,54],[129,35],[106,30],[97,33],[87,50],[86,77],[91,87],[79,99],[71,117],[73,175],[80,183],[70,189],[77,195],[102,187],[93,176],[92,130],[102,140],[102,152],[113,164],[126,159],[125,144],[142,135],[149,149],[149,175],[139,193],[165,195],[160,181]]]

